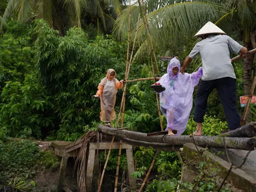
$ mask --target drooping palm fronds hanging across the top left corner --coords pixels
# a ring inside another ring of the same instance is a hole
[[[114,20],[106,12],[109,7],[116,15],[121,11],[121,3],[118,0],[10,0],[7,4],[6,0],[0,0],[0,11],[5,8],[4,20],[13,15],[17,15],[18,20],[22,22],[34,18],[44,19],[62,34],[70,27],[81,27],[83,11],[97,15],[98,21],[100,19],[103,29],[106,30],[106,21],[109,18]]]

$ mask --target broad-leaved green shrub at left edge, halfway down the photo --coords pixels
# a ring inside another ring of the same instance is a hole
[[[27,76],[23,83],[6,82],[0,107],[0,139],[4,133],[10,137],[40,138],[41,129],[54,126],[49,115],[52,104],[35,75]]]

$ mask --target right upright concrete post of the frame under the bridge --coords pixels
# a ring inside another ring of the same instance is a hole
[[[126,149],[126,158],[127,158],[127,169],[128,169],[128,175],[129,175],[130,191],[136,192],[137,191],[136,180],[135,178],[131,177],[131,174],[135,171],[132,148]]]

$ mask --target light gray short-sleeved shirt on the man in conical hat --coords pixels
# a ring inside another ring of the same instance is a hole
[[[202,79],[204,81],[223,77],[236,78],[230,60],[230,52],[238,54],[242,47],[227,35],[209,35],[194,46],[189,57],[195,59],[198,54],[201,54],[203,61]]]

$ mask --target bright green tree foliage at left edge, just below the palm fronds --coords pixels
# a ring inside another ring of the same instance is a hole
[[[9,21],[4,34],[0,34],[0,83],[23,81],[34,69],[35,49],[28,34],[28,26]]]

